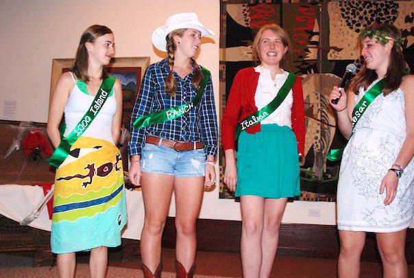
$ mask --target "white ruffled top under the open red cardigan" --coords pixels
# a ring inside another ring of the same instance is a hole
[[[260,73],[256,94],[254,95],[254,101],[256,102],[258,110],[260,110],[278,95],[280,88],[282,88],[282,85],[289,76],[289,72],[283,71],[283,73],[276,74],[275,80],[272,80],[269,69],[259,65],[254,68],[254,71]],[[260,124],[278,124],[279,126],[289,126],[289,128],[291,128],[292,104],[293,92],[291,90],[276,111],[271,113],[271,115],[263,121],[260,121]]]

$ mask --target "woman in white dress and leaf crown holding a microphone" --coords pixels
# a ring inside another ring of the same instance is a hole
[[[401,43],[393,25],[361,30],[364,65],[348,96],[336,86],[330,94],[339,129],[349,139],[337,192],[339,277],[358,277],[366,232],[376,233],[384,277],[408,277],[404,247],[414,211],[414,76],[404,70]]]

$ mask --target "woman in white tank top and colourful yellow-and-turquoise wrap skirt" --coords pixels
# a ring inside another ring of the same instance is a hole
[[[57,167],[51,250],[58,254],[60,277],[74,277],[75,252],[88,250],[91,277],[105,277],[107,247],[121,244],[126,223],[116,147],[122,89],[105,70],[112,56],[112,31],[103,25],[88,27],[73,66],[60,76],[51,99],[47,134],[56,151],[48,162]]]

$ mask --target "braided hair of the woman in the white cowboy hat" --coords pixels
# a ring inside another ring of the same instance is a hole
[[[167,65],[169,67],[169,72],[167,78],[164,81],[164,89],[165,92],[170,94],[171,97],[175,97],[175,93],[177,92],[177,80],[175,80],[175,76],[173,75],[173,66],[174,66],[174,53],[175,49],[177,49],[177,45],[175,45],[175,41],[173,39],[174,36],[182,36],[187,29],[178,29],[174,30],[173,32],[169,33],[165,38],[167,40],[167,54],[168,60]],[[191,66],[193,67],[193,79],[191,82],[193,83],[194,89],[199,88],[200,82],[203,79],[203,73],[199,69],[197,62],[195,62],[194,58],[191,58]]]

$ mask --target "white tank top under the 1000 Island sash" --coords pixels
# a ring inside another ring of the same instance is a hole
[[[66,130],[64,136],[69,135],[73,128],[79,123],[80,119],[84,117],[86,111],[90,108],[95,97],[87,95],[82,92],[77,86],[77,82],[71,73],[75,86],[69,95],[66,106],[64,106],[64,119],[66,121]],[[81,82],[81,81],[78,81]],[[97,114],[95,119],[84,131],[82,136],[104,139],[114,143],[112,137],[112,119],[117,112],[117,99],[115,98],[114,89],[112,89],[110,96],[103,104],[101,111]]]

